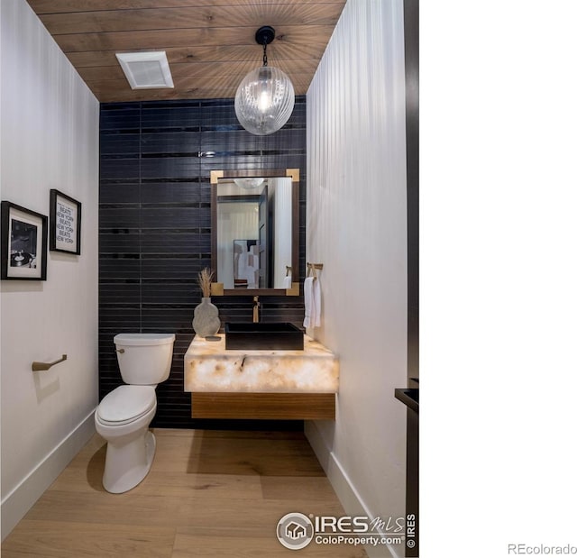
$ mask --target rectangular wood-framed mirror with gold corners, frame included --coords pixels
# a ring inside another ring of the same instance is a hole
[[[299,169],[213,170],[211,296],[298,296]]]

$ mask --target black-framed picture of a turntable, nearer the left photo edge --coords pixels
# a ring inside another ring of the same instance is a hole
[[[48,217],[2,202],[1,279],[46,280]]]

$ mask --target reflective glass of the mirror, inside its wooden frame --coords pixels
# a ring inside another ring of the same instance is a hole
[[[217,281],[241,292],[290,288],[292,178],[218,178],[215,188]]]

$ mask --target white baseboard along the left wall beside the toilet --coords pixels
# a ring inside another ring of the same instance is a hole
[[[96,433],[94,410],[2,500],[2,540]]]

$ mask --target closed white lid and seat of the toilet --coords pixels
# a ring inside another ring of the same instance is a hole
[[[98,405],[98,419],[107,425],[125,425],[146,415],[156,403],[154,386],[120,386]]]

